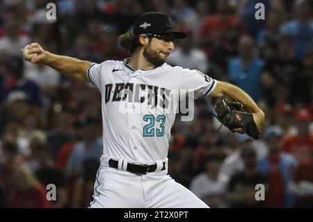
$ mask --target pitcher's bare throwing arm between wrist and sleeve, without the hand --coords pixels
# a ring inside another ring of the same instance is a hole
[[[86,71],[92,65],[89,61],[82,61],[68,56],[59,56],[45,51],[45,65],[49,65],[54,70],[65,74],[76,81],[88,82]]]

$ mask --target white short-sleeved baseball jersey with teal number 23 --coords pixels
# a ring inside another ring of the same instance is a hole
[[[216,86],[215,79],[197,70],[166,63],[153,70],[134,70],[127,60],[104,61],[91,65],[87,75],[102,94],[104,155],[135,163],[167,160],[176,115],[163,109],[168,93],[186,89],[196,99]],[[179,99],[174,100],[177,106]]]

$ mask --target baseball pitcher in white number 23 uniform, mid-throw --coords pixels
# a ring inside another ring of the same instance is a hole
[[[132,33],[118,39],[131,52],[124,61],[96,64],[52,54],[38,43],[26,47],[31,63],[90,82],[102,95],[104,146],[90,207],[209,207],[168,175],[170,129],[186,95],[215,98],[220,122],[258,138],[264,113],[243,90],[165,63],[175,39],[185,37],[166,13],[153,12],[138,17]]]

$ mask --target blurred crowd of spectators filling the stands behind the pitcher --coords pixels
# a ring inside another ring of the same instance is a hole
[[[49,2],[56,20],[46,18]],[[265,19],[255,18],[256,3]],[[196,100],[193,121],[177,115],[172,127],[172,178],[210,207],[313,207],[312,8],[310,0],[0,0],[0,207],[88,207],[102,155],[99,92],[24,61],[20,49],[38,42],[96,63],[123,60],[118,36],[151,10],[188,33],[167,63],[236,84],[266,113],[256,141],[218,129],[209,99]]]

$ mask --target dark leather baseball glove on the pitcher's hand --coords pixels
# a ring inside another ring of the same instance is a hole
[[[216,98],[212,104],[217,113],[216,118],[225,127],[234,132],[234,129],[242,127],[248,136],[259,138],[259,129],[253,120],[252,113],[243,109],[240,102],[229,102],[226,98]]]

